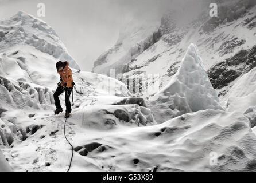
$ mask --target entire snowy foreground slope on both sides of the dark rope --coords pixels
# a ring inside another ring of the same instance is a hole
[[[255,171],[256,136],[239,112],[208,109],[160,125],[104,129],[73,117],[67,126],[75,147],[71,171]],[[63,116],[36,114],[33,121],[42,127],[5,150],[10,165],[22,171],[67,170],[71,149],[64,141]]]

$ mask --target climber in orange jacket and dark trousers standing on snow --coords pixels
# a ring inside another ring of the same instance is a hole
[[[69,114],[71,113],[71,103],[69,101],[70,94],[72,92],[72,88],[75,85],[72,78],[72,70],[68,67],[69,63],[65,62],[57,62],[56,69],[57,72],[60,74],[60,82],[58,83],[58,87],[53,94],[56,110],[55,115],[63,112],[63,109],[60,105],[59,96],[61,93],[65,92],[65,104],[66,104],[66,113],[65,118],[69,118]]]

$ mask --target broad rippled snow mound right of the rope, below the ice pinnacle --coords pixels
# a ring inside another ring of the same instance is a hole
[[[238,112],[207,109],[160,125],[98,136],[77,137],[77,145],[97,142],[112,148],[90,152],[87,157],[95,158],[93,161],[77,154],[80,165],[73,170],[100,170],[101,166],[109,170],[108,165],[115,171],[256,170],[256,136],[247,118]]]

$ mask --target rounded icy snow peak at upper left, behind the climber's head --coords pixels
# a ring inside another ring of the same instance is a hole
[[[79,69],[55,30],[23,11],[0,20],[0,35],[0,53],[17,45],[30,45],[56,59],[68,61],[69,66]]]

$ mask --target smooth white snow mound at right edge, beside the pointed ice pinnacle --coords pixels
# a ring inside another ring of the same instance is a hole
[[[256,68],[244,74],[227,93],[227,110],[245,112],[256,105]]]

